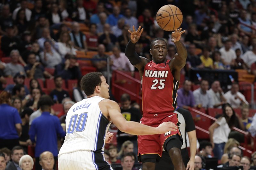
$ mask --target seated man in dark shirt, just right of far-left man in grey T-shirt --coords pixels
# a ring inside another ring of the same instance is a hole
[[[28,78],[40,78],[44,80],[44,77],[46,78],[53,78],[53,76],[44,70],[44,66],[36,61],[36,55],[34,53],[30,53],[28,55],[28,65],[24,67]]]

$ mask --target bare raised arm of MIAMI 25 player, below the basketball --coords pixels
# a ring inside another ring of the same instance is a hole
[[[174,69],[175,72],[180,72],[180,70],[185,66],[188,55],[186,47],[180,42],[181,34],[185,33],[186,31],[181,30],[182,28],[176,29],[172,32],[172,42],[174,42],[177,48],[177,54],[174,55],[174,59],[172,60],[172,62],[170,62],[170,68],[172,69],[172,71]],[[180,75],[180,73],[178,74]],[[176,80],[180,80],[180,78],[175,74],[173,76]]]

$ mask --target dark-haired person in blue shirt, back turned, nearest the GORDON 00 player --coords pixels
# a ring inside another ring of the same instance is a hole
[[[30,140],[35,143],[36,169],[42,169],[39,164],[39,156],[44,151],[52,152],[55,162],[58,156],[57,137],[65,137],[66,133],[60,126],[58,117],[50,115],[51,106],[54,104],[52,98],[43,95],[38,101],[38,105],[42,110],[42,115],[33,120],[29,136]],[[36,137],[36,140],[35,140]]]

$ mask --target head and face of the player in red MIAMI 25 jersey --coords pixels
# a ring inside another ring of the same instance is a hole
[[[167,55],[166,42],[163,40],[156,40],[153,42],[152,49],[149,50],[152,55],[153,62],[155,63],[165,63]]]

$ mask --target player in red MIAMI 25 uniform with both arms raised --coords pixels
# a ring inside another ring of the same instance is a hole
[[[136,31],[133,26],[131,40],[125,48],[125,55],[132,65],[138,68],[142,80],[142,111],[140,123],[157,127],[161,122],[173,122],[179,126],[176,109],[176,93],[179,87],[180,70],[186,64],[187,50],[179,41],[185,32],[176,29],[172,32],[172,41],[177,54],[170,61],[166,59],[167,43],[162,38],[154,39],[150,44],[152,61],[139,56],[135,52],[135,44],[139,41],[143,28]],[[169,153],[175,170],[185,170],[180,148],[183,140],[180,130],[168,131],[161,135],[138,136],[138,155],[143,170],[155,170],[156,161],[162,156],[163,148]]]

